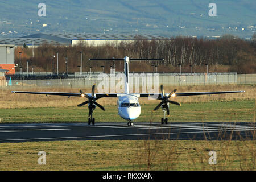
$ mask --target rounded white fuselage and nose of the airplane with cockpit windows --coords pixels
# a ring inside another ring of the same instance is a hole
[[[141,106],[137,96],[122,94],[117,101],[118,114],[128,121],[134,120],[141,114]]]

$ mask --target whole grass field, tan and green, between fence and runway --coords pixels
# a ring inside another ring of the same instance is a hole
[[[166,92],[174,88],[164,88]],[[180,86],[178,92],[208,92],[220,90],[245,90],[245,93],[220,94],[212,96],[190,96],[172,98],[182,106],[170,105],[169,121],[254,121],[255,85],[203,85]],[[1,123],[17,122],[87,122],[88,108],[77,107],[84,102],[80,97],[42,96],[34,94],[14,94],[12,88],[0,89]],[[19,88],[18,90],[48,92],[78,92],[75,88]],[[90,89],[82,89],[89,93]],[[96,92],[97,93],[97,92]],[[98,102],[106,111],[96,108],[94,117],[97,122],[124,121],[119,117],[117,98],[101,98]],[[152,113],[158,100],[140,98],[142,112],[138,122],[159,122],[163,117],[161,109]]]

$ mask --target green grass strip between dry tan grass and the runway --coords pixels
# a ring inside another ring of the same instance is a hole
[[[163,117],[161,109],[152,112],[156,105],[141,105],[141,115],[135,122],[159,122]],[[97,122],[125,121],[118,115],[117,106],[105,106],[106,111],[96,108],[94,117]],[[255,100],[216,101],[185,103],[181,107],[170,105],[171,122],[243,122],[254,121]],[[36,122],[87,122],[88,108],[85,107],[42,107],[27,109],[1,109],[1,123]]]

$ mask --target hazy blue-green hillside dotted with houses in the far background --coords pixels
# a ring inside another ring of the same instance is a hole
[[[46,17],[38,16],[39,2],[1,1],[1,36],[35,32],[138,32],[168,37],[233,34],[250,38],[256,30],[253,0],[214,1],[217,17],[208,15],[208,5],[213,1],[205,0],[45,0]]]

